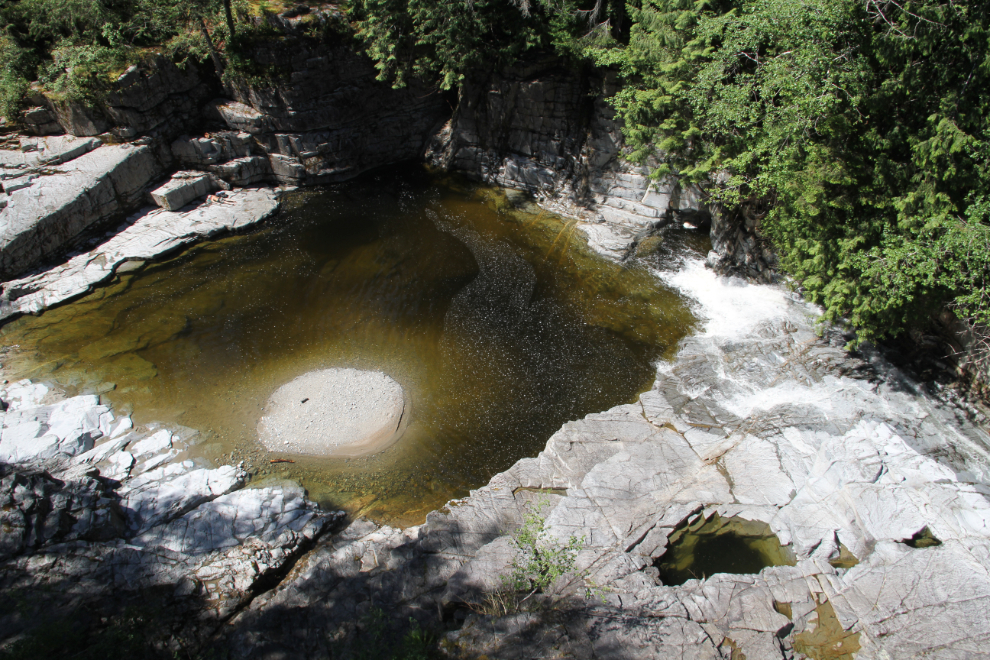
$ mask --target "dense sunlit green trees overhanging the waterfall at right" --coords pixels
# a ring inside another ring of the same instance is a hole
[[[872,339],[986,323],[990,18],[975,0],[642,0],[592,49],[632,157],[762,216],[783,266]],[[974,290],[973,287],[977,287]]]

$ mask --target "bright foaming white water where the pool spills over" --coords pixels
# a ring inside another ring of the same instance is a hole
[[[803,325],[820,313],[781,286],[716,275],[701,259],[686,260],[675,272],[656,274],[695,300],[693,311],[704,321],[702,337],[742,338],[765,321],[800,319]]]

